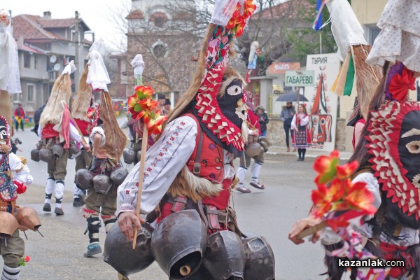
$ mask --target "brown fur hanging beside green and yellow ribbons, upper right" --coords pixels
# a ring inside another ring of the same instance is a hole
[[[375,90],[382,79],[381,67],[372,66],[366,63],[367,55],[370,52],[370,45],[353,45],[353,62],[356,69],[356,90],[360,113],[363,118],[367,118],[369,105]]]

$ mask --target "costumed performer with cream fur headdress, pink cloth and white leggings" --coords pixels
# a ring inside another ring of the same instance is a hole
[[[50,98],[41,114],[38,127],[38,135],[41,137],[41,142],[37,145],[39,149],[38,160],[47,162],[49,176],[45,187],[43,211],[51,211],[50,204],[54,192],[54,212],[57,215],[64,214],[62,198],[70,141],[74,141],[79,148],[82,145],[82,137],[73,120],[71,120],[67,107],[71,95],[70,74],[75,70],[76,67],[73,62],[70,62],[55,81]],[[34,157],[34,160],[36,160],[36,157]]]

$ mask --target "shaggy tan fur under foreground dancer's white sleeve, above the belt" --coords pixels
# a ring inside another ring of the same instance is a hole
[[[172,197],[176,197],[177,195],[189,197],[193,202],[197,203],[204,197],[218,195],[221,190],[221,184],[211,183],[208,179],[195,176],[187,166],[184,166],[169,187],[168,193]]]

